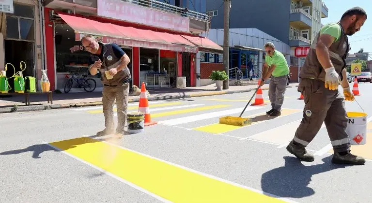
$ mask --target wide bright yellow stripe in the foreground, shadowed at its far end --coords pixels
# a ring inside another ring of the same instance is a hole
[[[50,144],[174,203],[284,203],[91,138]]]

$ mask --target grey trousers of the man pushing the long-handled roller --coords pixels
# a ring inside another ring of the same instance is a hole
[[[271,107],[277,111],[281,111],[281,105],[284,102],[284,93],[287,89],[288,75],[279,77],[271,76],[269,84],[269,100]]]

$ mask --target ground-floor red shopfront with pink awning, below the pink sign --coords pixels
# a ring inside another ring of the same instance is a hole
[[[57,88],[63,88],[66,66],[70,68],[71,66],[85,68],[88,66],[89,53],[83,50],[79,42],[85,34],[93,34],[103,43],[112,42],[122,46],[124,52],[131,58],[129,69],[132,73],[132,84],[139,87],[142,82],[145,82],[149,88],[177,87],[177,77],[186,77],[186,87],[195,87],[195,58],[198,49],[205,44],[212,44],[222,49],[204,37],[153,31],[141,29],[138,26],[130,27],[127,23],[121,24],[117,21],[113,24],[109,19],[99,17],[65,14],[46,9],[45,18],[47,50],[55,49],[56,53],[52,55],[47,52],[47,64],[53,66],[51,61],[55,60],[57,67],[55,71],[53,70],[54,73],[48,71],[48,77],[55,78],[54,84]],[[60,29],[59,27],[62,28],[62,26],[63,29]],[[97,28],[102,28],[102,30]],[[57,35],[62,30],[65,33],[61,34],[62,40],[59,42],[61,37]],[[55,42],[52,42],[53,36],[55,36]],[[66,40],[66,43],[63,40]],[[49,44],[49,42],[52,43]],[[55,46],[51,47],[53,44]],[[77,51],[71,53],[69,50],[71,47],[76,47],[74,50]],[[66,55],[70,56],[67,57],[68,60],[63,57]],[[52,88],[54,84],[51,84]],[[100,83],[97,82],[97,88],[98,85]]]

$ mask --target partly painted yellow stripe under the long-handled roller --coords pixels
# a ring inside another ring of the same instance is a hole
[[[281,115],[276,116],[276,117],[275,116],[268,116],[268,115],[266,115],[266,113],[257,114],[257,115],[253,115],[253,116],[248,116],[248,117],[250,117],[252,119],[252,124],[251,125],[255,125],[255,124],[259,124],[259,123],[262,123],[262,122],[265,122],[265,121],[268,121],[268,120],[277,119],[277,118],[280,118],[280,117],[283,117],[283,116],[288,116],[288,115],[291,115],[291,114],[294,114],[294,113],[297,113],[297,112],[301,112],[301,111],[302,110],[299,110],[299,109],[282,109]],[[249,125],[249,126],[251,126],[251,125]],[[243,128],[243,127],[242,126],[233,126],[233,125],[221,124],[221,123],[214,123],[214,124],[211,124],[211,125],[194,128],[193,130],[219,134],[219,133],[225,133],[225,132],[237,130],[239,128]]]

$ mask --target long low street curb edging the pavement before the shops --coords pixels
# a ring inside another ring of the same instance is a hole
[[[291,86],[288,86],[291,87]],[[148,101],[159,101],[159,100],[174,100],[174,99],[184,99],[192,97],[207,97],[223,94],[234,94],[234,93],[244,93],[250,92],[255,88],[245,89],[245,90],[232,90],[232,91],[217,91],[217,92],[206,92],[190,95],[171,95],[171,96],[162,96],[162,97],[149,97]],[[263,87],[262,90],[268,90],[269,87]],[[140,102],[140,98],[129,99],[128,103],[131,102]],[[69,103],[69,104],[49,104],[49,105],[32,105],[32,106],[18,106],[18,107],[0,107],[0,114],[2,113],[15,113],[15,112],[28,112],[28,111],[41,111],[47,109],[62,109],[62,108],[77,108],[77,107],[86,107],[86,106],[100,106],[102,102],[82,102],[82,103]]]

